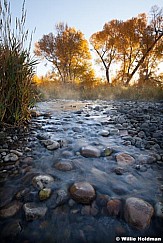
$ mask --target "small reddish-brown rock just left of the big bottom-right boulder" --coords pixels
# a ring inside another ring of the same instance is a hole
[[[109,215],[118,216],[121,212],[122,203],[119,199],[111,199],[107,203],[107,210]]]

